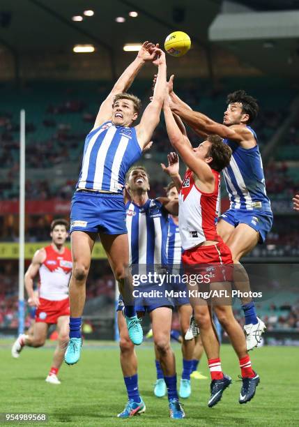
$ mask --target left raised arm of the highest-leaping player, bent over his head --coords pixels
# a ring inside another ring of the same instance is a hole
[[[100,110],[98,112],[98,116],[95,119],[95,125],[93,128],[97,128],[105,121],[108,121],[112,118],[112,103],[113,98],[117,93],[125,92],[129,89],[132,82],[134,82],[135,77],[139,73],[139,70],[144,63],[148,61],[153,61],[155,57],[155,53],[153,51],[155,45],[148,41],[144,42],[139,50],[137,57],[135,60],[130,63],[130,65],[125,68],[121,77],[118,78],[117,82],[114,84],[112,91],[109,93],[107,98],[102,102],[100,106]]]

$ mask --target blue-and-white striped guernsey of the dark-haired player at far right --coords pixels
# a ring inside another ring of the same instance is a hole
[[[244,211],[260,209],[270,212],[271,205],[266,193],[263,163],[256,133],[250,126],[247,128],[256,139],[256,146],[251,149],[245,149],[234,141],[224,139],[224,143],[233,151],[229,166],[223,170],[231,209]]]

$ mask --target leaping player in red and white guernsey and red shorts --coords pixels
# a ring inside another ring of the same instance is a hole
[[[233,260],[231,250],[217,234],[215,220],[219,209],[220,171],[229,165],[231,149],[218,135],[208,135],[199,147],[193,148],[181,119],[171,112],[168,93],[165,95],[163,110],[169,140],[187,166],[185,177],[181,181],[178,174],[178,159],[173,153],[170,161],[176,163],[177,168],[173,179],[180,187],[178,220],[184,249],[182,260],[185,274],[189,275],[189,279],[192,276],[197,278],[192,280],[193,283],[189,280],[189,289],[197,286],[198,292],[202,291],[203,287],[204,290],[207,287],[209,292],[226,289],[229,291],[229,270],[233,267]],[[200,277],[204,278],[201,283]],[[222,398],[223,391],[231,384],[231,377],[222,373],[220,343],[213,325],[212,307],[201,295],[189,296],[208,358],[212,380],[208,406],[213,407]],[[255,394],[259,375],[252,370],[245,336],[233,316],[230,301],[212,298],[210,301],[238,356],[243,380],[239,403],[246,403]],[[217,305],[214,305],[215,302]]]

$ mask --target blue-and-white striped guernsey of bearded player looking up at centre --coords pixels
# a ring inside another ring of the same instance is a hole
[[[125,204],[129,240],[129,264],[167,265],[168,212],[158,200],[148,199],[139,207]]]

